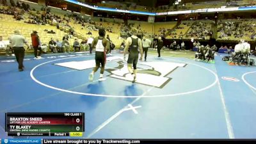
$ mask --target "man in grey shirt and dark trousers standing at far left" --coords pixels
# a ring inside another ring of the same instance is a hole
[[[23,71],[24,65],[23,65],[23,60],[24,60],[24,55],[25,55],[25,49],[24,49],[24,44],[26,44],[28,47],[28,43],[25,40],[24,36],[20,35],[19,30],[14,31],[14,35],[10,36],[10,45],[12,46],[12,49],[14,51],[15,57],[17,62],[19,63],[19,71]]]

